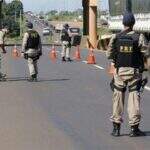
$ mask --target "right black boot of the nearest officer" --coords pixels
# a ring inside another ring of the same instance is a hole
[[[145,133],[139,129],[139,124],[131,126],[130,137],[145,136]]]

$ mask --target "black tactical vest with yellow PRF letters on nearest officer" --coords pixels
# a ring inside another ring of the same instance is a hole
[[[139,35],[118,34],[116,37],[115,65],[119,67],[143,68],[143,55],[139,47]]]

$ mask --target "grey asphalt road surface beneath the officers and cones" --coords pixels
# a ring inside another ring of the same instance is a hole
[[[95,52],[97,65],[86,64],[87,50],[81,61],[62,63],[60,47],[56,62],[49,59],[50,47],[43,47],[38,82],[30,83],[27,62],[14,59],[11,49],[3,58],[8,81],[0,83],[1,150],[149,150],[150,84],[141,100],[141,129],[147,136],[128,136],[125,108],[122,136],[114,138],[104,53]]]

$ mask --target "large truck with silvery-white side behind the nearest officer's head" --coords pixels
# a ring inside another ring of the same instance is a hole
[[[125,11],[134,13],[134,30],[143,33],[150,41],[150,0],[109,0],[109,29],[118,32],[123,29],[122,19]]]

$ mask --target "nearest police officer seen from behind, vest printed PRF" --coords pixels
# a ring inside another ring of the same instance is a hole
[[[146,47],[144,36],[133,31],[135,24],[134,15],[126,12],[123,16],[124,30],[112,36],[107,57],[114,64],[116,71],[113,77],[113,122],[112,136],[120,136],[121,123],[123,122],[123,109],[125,91],[128,87],[128,117],[130,137],[144,136],[139,129],[140,114],[140,88],[143,72],[143,49]]]

